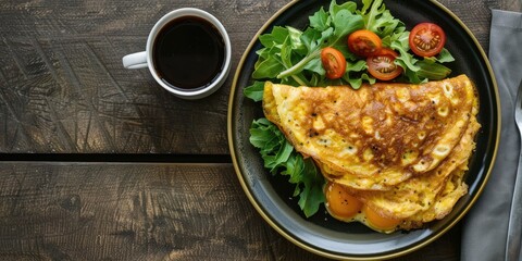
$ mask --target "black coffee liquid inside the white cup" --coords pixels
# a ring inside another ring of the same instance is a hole
[[[223,70],[225,44],[217,28],[197,16],[184,16],[163,26],[153,45],[156,71],[167,85],[203,88]]]

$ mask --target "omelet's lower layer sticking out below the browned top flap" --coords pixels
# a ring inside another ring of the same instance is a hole
[[[468,170],[468,160],[475,148],[473,138],[480,124],[472,117],[461,142],[453,148],[447,160],[430,173],[411,177],[389,190],[352,189],[351,191],[373,209],[380,210],[385,216],[415,220],[418,219],[414,216],[415,214],[424,213],[430,209],[435,210],[437,216],[443,213],[446,215],[456,200],[447,203],[447,199],[444,199],[443,202],[445,194],[452,192],[451,198],[459,199],[468,191],[465,184],[451,183],[451,179],[461,178],[463,172]],[[427,212],[423,215],[426,214]]]

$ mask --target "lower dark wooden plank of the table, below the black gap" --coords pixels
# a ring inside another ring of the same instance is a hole
[[[0,163],[0,260],[321,260],[261,219],[231,164]],[[457,260],[451,236],[397,260]]]

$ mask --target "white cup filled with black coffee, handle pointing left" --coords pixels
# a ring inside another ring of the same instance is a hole
[[[191,23],[183,26],[192,27],[186,27],[184,28],[185,30],[177,29],[181,27],[178,23]],[[201,26],[198,23],[201,23]],[[208,27],[212,28],[209,29]],[[189,37],[173,37],[177,32],[190,32],[188,34]],[[189,41],[177,42],[186,38],[196,37],[197,34],[192,34],[192,32],[201,32],[201,36],[204,39],[215,40],[219,37],[221,39],[217,39],[219,45],[212,45],[211,48],[203,47],[217,41],[202,41],[200,40],[201,38],[198,38],[191,41],[194,45]],[[169,35],[165,36],[166,34]],[[210,35],[213,38],[210,38]],[[161,44],[158,42],[159,39]],[[200,45],[199,48],[198,45]],[[169,49],[165,46],[184,46],[184,48]],[[204,61],[203,54],[209,57],[208,51],[204,53],[200,52],[209,49],[214,50],[211,58],[217,57],[219,60],[210,59]],[[162,59],[160,53],[167,53],[167,55],[164,55]],[[231,71],[231,40],[221,22],[203,10],[183,8],[161,17],[148,36],[146,50],[123,57],[123,66],[126,69],[148,67],[156,82],[170,92],[183,99],[200,99],[213,94],[224,84]],[[185,61],[185,63],[181,61]],[[212,63],[212,66],[207,69],[209,63]],[[173,65],[171,66],[171,64]],[[201,71],[201,67],[204,69],[202,71],[206,73],[202,73],[201,77],[199,77],[198,71]]]

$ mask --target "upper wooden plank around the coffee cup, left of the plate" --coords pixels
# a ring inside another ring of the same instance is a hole
[[[285,1],[0,2],[0,152],[226,154],[235,67]],[[186,101],[122,57],[145,50],[167,12],[200,8],[233,39],[233,69],[217,94]]]

